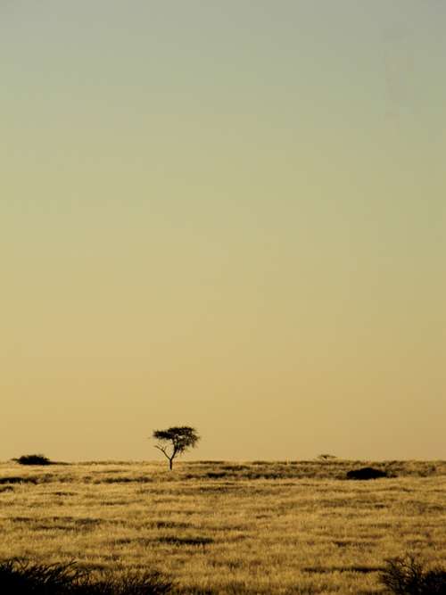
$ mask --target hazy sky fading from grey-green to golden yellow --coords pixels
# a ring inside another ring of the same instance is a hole
[[[0,3],[0,459],[444,459],[446,4]]]

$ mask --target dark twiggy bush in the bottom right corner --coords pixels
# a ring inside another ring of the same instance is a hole
[[[411,554],[386,560],[387,566],[379,576],[387,593],[394,595],[445,595],[446,570],[426,570],[423,563]]]

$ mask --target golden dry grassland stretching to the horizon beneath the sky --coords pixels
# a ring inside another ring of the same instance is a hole
[[[382,468],[391,478],[349,481]],[[180,593],[376,593],[446,559],[446,461],[0,464],[0,559],[156,568]]]

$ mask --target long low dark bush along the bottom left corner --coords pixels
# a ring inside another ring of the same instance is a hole
[[[165,595],[173,583],[153,570],[93,579],[70,564],[37,564],[19,558],[0,562],[0,593],[23,595]]]

